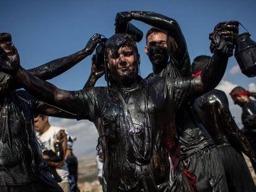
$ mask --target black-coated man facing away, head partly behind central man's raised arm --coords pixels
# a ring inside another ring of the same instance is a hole
[[[210,56],[195,57],[192,62],[194,76],[200,75],[210,59]],[[220,90],[211,90],[195,99],[194,107],[198,118],[207,128],[220,152],[229,191],[256,191],[242,152],[254,162],[256,154],[237,127],[229,111],[226,94]]]

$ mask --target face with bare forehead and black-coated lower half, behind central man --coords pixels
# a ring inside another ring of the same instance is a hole
[[[166,65],[169,60],[166,40],[167,36],[163,32],[154,32],[148,35],[145,52],[155,67]]]

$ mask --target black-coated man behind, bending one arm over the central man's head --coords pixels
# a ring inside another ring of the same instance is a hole
[[[120,12],[116,16],[116,23],[120,20],[139,20],[151,25],[146,35],[147,46],[145,52],[153,66],[153,73],[147,78],[155,77],[190,77],[190,59],[186,40],[176,20],[154,12]],[[217,26],[227,27],[217,31]],[[238,33],[237,22],[221,23],[215,27],[216,33],[223,35],[227,40]],[[230,30],[228,32],[228,30]],[[211,40],[213,40],[211,35]],[[213,41],[214,42],[214,41]],[[220,42],[220,41],[219,41]],[[232,44],[233,42],[231,42]],[[216,46],[211,43],[211,49]],[[219,44],[220,45],[220,44]],[[221,52],[224,47],[217,48]],[[231,52],[224,52],[231,56]],[[212,59],[220,59],[213,57]],[[225,59],[224,59],[225,60]],[[223,61],[224,61],[223,60]],[[223,62],[221,61],[221,62]],[[190,177],[190,182],[197,191],[227,190],[223,165],[220,155],[211,136],[197,119],[192,102],[184,104],[176,116],[177,133],[181,144],[181,156],[184,172]],[[203,159],[203,161],[201,160]],[[195,175],[195,176],[194,176]],[[195,180],[195,177],[197,179]]]

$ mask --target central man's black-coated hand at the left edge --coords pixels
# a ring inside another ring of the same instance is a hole
[[[0,46],[0,70],[10,75],[15,74],[20,67],[20,57],[14,44],[11,43],[11,49],[5,51]]]

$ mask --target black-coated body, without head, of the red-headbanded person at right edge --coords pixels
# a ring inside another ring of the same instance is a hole
[[[242,106],[242,131],[249,140],[250,145],[256,151],[256,102],[251,101]],[[251,160],[252,161],[252,160]],[[252,161],[252,166],[256,171],[256,163]]]

